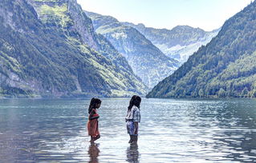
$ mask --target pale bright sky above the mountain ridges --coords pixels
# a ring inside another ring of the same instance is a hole
[[[171,30],[175,26],[215,30],[254,0],[77,0],[83,10],[120,22]]]

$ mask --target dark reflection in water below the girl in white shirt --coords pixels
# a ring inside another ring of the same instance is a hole
[[[140,162],[139,161],[140,153],[138,150],[138,145],[131,144],[126,150],[126,156],[127,156],[126,161],[128,162],[132,162],[132,163]]]

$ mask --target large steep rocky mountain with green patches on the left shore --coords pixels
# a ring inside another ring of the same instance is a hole
[[[75,0],[2,0],[0,20],[0,96],[120,97],[147,89]]]

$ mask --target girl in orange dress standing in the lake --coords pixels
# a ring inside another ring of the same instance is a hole
[[[91,98],[90,106],[88,109],[89,117],[87,123],[88,134],[91,136],[91,142],[100,138],[97,109],[100,108],[101,101],[99,98]]]

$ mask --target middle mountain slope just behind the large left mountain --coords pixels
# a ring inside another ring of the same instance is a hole
[[[116,18],[87,12],[98,34],[109,42],[128,60],[134,73],[149,88],[168,77],[177,69],[178,62],[168,58],[143,34],[130,26],[124,26]]]

